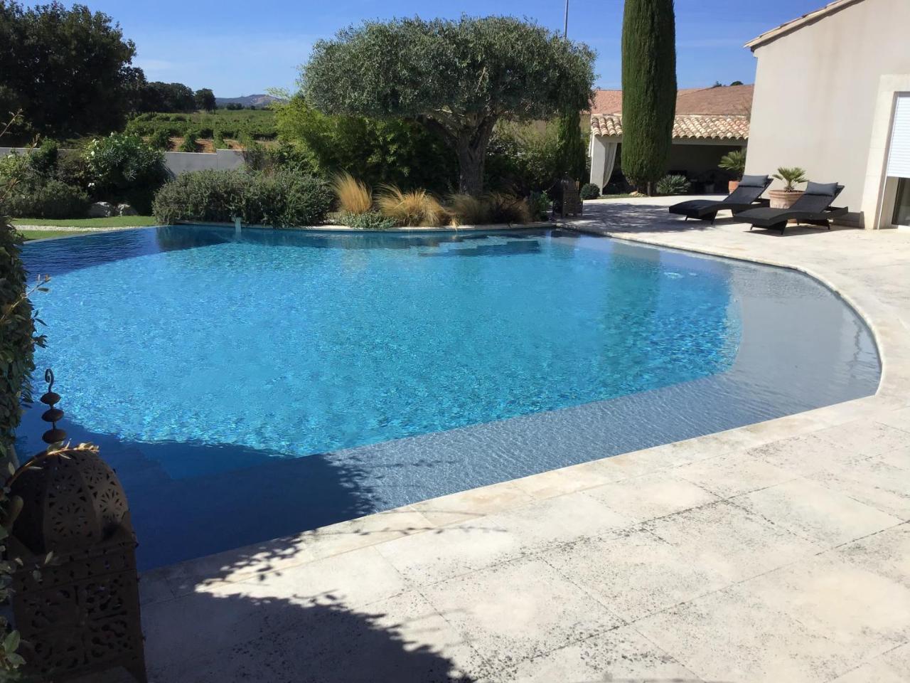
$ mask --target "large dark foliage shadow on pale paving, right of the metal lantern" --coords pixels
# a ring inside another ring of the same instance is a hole
[[[354,608],[330,594],[278,598],[248,588],[147,609],[148,681],[470,683],[485,671],[480,656],[416,594]],[[407,616],[392,618],[392,611]],[[111,669],[76,683],[132,680]]]

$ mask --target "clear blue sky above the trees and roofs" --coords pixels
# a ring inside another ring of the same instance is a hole
[[[136,42],[149,80],[211,87],[218,97],[293,87],[319,38],[368,18],[516,15],[562,29],[564,0],[82,0],[111,15]],[[680,87],[753,82],[743,43],[827,0],[676,0]],[[598,54],[597,85],[620,87],[622,0],[570,0],[569,36]]]

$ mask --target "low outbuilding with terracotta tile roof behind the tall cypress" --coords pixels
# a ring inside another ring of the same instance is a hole
[[[668,172],[696,182],[712,175],[723,176],[717,167],[721,157],[744,148],[749,139],[752,96],[751,85],[680,90],[676,94]],[[603,189],[613,173],[622,170],[622,90],[595,91],[590,117],[589,182]]]

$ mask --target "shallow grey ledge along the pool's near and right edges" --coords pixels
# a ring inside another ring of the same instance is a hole
[[[749,264],[731,271],[727,305],[742,326],[735,361],[690,382],[296,458],[237,444],[129,441],[72,421],[64,427],[76,442],[98,443],[115,467],[147,569],[875,392],[875,344],[843,301],[793,271]],[[38,414],[26,414],[21,434],[41,433]],[[24,453],[35,445],[21,443]]]

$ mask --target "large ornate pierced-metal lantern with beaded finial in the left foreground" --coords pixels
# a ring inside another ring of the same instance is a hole
[[[10,495],[23,502],[9,549],[23,560],[13,579],[13,614],[30,643],[26,670],[58,683],[122,666],[145,683],[136,536],[126,495],[96,446],[62,445],[53,373],[45,380],[48,448],[10,480]]]

